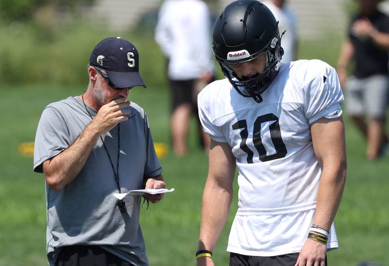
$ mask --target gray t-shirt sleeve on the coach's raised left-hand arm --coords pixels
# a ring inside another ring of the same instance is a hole
[[[44,161],[71,145],[68,127],[61,113],[47,106],[40,117],[34,143],[34,171],[42,173]]]

